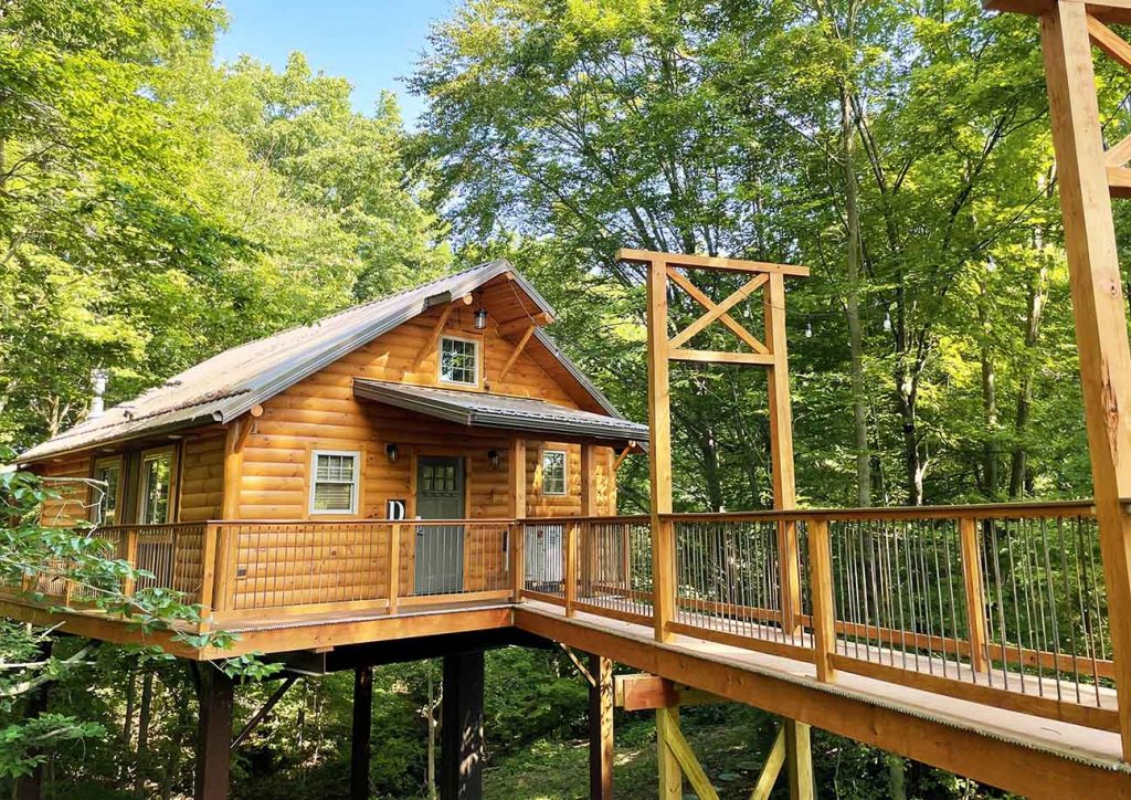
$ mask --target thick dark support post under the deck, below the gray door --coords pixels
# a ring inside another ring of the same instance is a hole
[[[443,657],[441,800],[483,797],[483,651]]]

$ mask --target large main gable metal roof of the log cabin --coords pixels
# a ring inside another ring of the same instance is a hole
[[[432,306],[475,291],[499,275],[511,273],[538,311],[553,308],[507,260],[489,261],[413,289],[226,350],[131,401],[107,408],[54,438],[31,448],[20,464],[49,456],[121,441],[145,435],[228,422],[279,392],[337,361]],[[594,402],[611,416],[620,413],[538,329],[535,338],[573,376]]]

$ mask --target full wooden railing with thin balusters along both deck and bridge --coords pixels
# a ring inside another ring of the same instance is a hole
[[[464,521],[239,521],[96,532],[226,619],[529,597],[1117,730],[1088,502]],[[61,570],[64,574],[64,570]],[[657,579],[663,577],[663,580]],[[657,605],[656,587],[672,596]],[[68,602],[88,587],[42,578]],[[672,609],[655,619],[655,608]]]

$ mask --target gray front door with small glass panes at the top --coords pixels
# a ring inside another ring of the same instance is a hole
[[[421,457],[416,467],[416,514],[422,519],[464,518],[464,459]],[[464,526],[416,527],[416,594],[464,588]]]

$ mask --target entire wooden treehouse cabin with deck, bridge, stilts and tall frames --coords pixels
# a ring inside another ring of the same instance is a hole
[[[238,634],[232,648],[143,637],[50,576],[9,590],[3,612],[200,663],[195,791],[209,800],[296,677],[344,669],[353,797],[368,797],[372,666],[439,656],[442,795],[478,797],[483,651],[547,643],[589,654],[573,661],[590,685],[593,798],[612,797],[614,706],[656,713],[661,797],[716,798],[679,724],[701,702],[783,717],[756,799],[779,772],[812,797],[813,725],[1034,798],[1131,798],[1131,349],[1111,209],[1131,145],[1104,149],[1091,52],[1131,69],[1107,27],[1131,23],[1131,0],[988,6],[1041,19],[1093,500],[797,508],[785,285],[808,270],[622,251],[647,274],[645,429],[495,263],[222,353],[23,456],[68,490],[48,522],[97,522],[148,583]],[[739,287],[711,298],[703,269]],[[676,291],[702,307],[682,330]],[[759,301],[756,329],[736,309]],[[697,347],[718,326],[734,349]],[[774,509],[674,511],[677,362],[766,371]],[[651,509],[618,516],[633,450]],[[285,671],[233,743],[235,687],[206,662],[249,652]],[[613,662],[640,673],[614,681]]]

